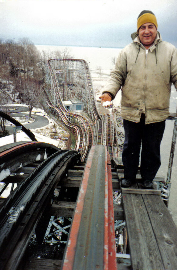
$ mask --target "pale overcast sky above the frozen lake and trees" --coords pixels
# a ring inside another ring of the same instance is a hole
[[[0,0],[0,39],[121,48],[144,9],[155,13],[162,39],[177,46],[176,0]]]

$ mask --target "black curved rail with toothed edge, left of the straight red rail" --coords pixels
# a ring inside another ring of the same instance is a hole
[[[7,198],[0,211],[1,269],[16,269],[33,229],[76,151],[58,151],[39,165]],[[56,177],[57,176],[57,177]]]

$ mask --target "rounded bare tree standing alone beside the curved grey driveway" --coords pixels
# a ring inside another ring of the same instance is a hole
[[[22,100],[29,108],[29,117],[34,107],[43,103],[43,90],[34,81],[26,80],[23,85]]]

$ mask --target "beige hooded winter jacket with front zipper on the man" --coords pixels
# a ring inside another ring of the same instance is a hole
[[[159,32],[148,50],[138,34],[132,38],[121,50],[103,93],[114,98],[121,89],[121,116],[126,120],[139,122],[143,112],[146,124],[163,121],[169,115],[171,84],[177,89],[177,49],[162,41]]]

